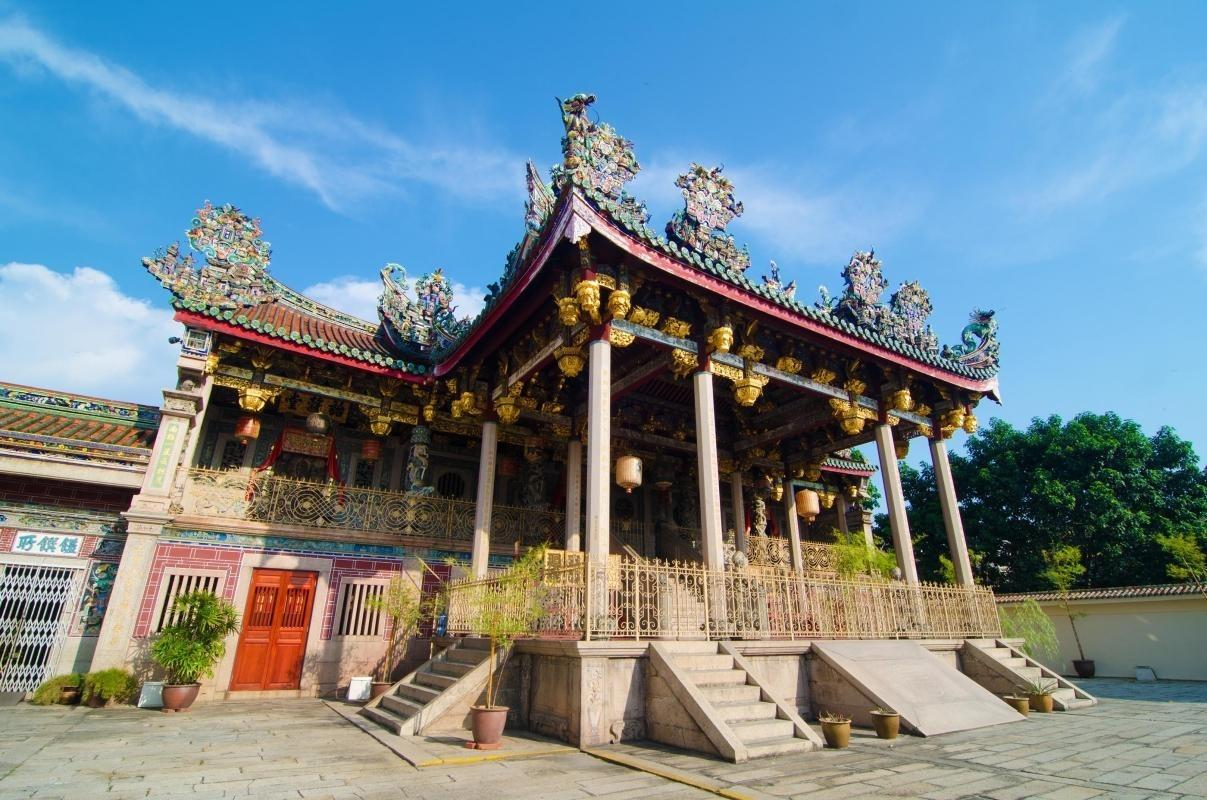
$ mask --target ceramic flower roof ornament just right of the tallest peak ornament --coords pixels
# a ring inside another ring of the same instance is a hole
[[[666,223],[666,235],[744,273],[751,265],[750,253],[725,233],[725,226],[742,215],[742,204],[734,198],[734,185],[721,174],[723,169],[693,163],[678,176],[675,186],[683,191],[684,208]]]

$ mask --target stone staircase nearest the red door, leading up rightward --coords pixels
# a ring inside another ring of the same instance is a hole
[[[489,656],[486,640],[459,638],[360,713],[398,736],[421,734],[466,697],[472,701],[482,694]]]

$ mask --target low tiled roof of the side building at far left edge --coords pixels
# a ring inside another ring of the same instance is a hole
[[[0,448],[145,463],[159,426],[151,405],[0,384]]]

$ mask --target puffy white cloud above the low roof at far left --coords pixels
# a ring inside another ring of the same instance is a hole
[[[89,267],[0,265],[0,379],[158,405],[181,326]]]

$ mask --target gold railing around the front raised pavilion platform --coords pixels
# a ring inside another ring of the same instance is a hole
[[[846,580],[699,565],[562,560],[540,589],[538,636],[587,640],[981,638],[1001,636],[993,592],[940,584]],[[450,588],[449,630],[472,633],[471,609],[497,578]],[[546,602],[542,600],[542,602]]]

